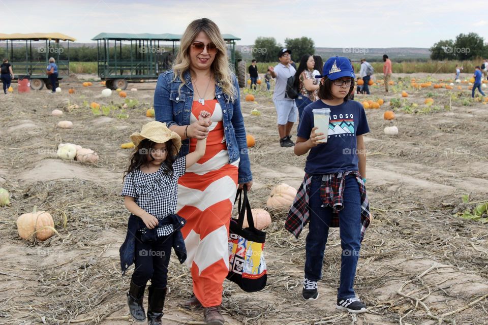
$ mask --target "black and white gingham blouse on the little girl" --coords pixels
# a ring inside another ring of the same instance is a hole
[[[173,163],[173,174],[167,175],[167,167],[161,164],[155,173],[146,174],[136,169],[127,174],[121,196],[135,198],[136,204],[158,219],[175,213],[178,200],[178,178],[186,171],[186,157],[180,157]],[[167,236],[174,232],[173,225],[158,228],[158,236]]]

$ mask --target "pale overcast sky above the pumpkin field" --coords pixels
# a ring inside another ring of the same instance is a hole
[[[82,43],[100,32],[181,34],[202,17],[241,38],[238,45],[307,36],[317,47],[431,47],[471,31],[488,41],[485,0],[0,0],[0,15],[0,33],[55,31]]]

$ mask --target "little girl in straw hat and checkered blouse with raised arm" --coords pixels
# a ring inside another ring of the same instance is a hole
[[[199,120],[210,125],[210,113],[202,111]],[[195,151],[175,159],[181,147],[180,137],[166,123],[149,122],[141,133],[131,135],[137,147],[131,157],[121,196],[131,212],[124,244],[120,247],[123,274],[135,263],[127,302],[132,317],[144,321],[142,298],[148,288],[147,322],[162,324],[166,282],[171,247],[180,263],[186,259],[180,228],[185,219],[174,214],[178,199],[178,178],[205,154],[206,138],[198,140]]]

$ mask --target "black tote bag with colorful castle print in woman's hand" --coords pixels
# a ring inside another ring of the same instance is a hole
[[[252,293],[262,290],[266,285],[267,272],[264,261],[266,233],[257,230],[254,226],[246,186],[243,190],[237,190],[235,202],[237,201],[239,217],[230,220],[227,279],[236,283],[242,290]],[[242,229],[245,214],[249,227]]]

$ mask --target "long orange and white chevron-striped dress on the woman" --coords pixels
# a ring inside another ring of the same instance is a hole
[[[222,302],[222,284],[229,272],[229,222],[237,191],[239,160],[229,164],[222,108],[217,100],[193,102],[190,123],[200,111],[211,113],[205,155],[178,180],[176,213],[187,220],[181,229],[191,268],[194,294],[204,307]],[[190,140],[190,152],[196,139]]]

